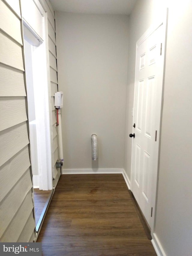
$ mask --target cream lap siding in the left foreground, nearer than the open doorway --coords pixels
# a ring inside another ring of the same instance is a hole
[[[0,242],[35,238],[19,0],[0,0]]]

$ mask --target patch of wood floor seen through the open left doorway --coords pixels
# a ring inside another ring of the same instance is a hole
[[[43,212],[46,201],[52,190],[39,190],[38,188],[34,188],[33,191],[35,204],[35,223],[37,226],[41,213]]]

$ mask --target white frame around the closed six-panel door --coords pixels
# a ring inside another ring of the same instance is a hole
[[[168,20],[168,8],[166,9],[162,19],[147,29],[147,31],[140,37],[140,39],[136,42],[136,55],[137,55],[137,47],[140,46],[146,38],[148,38],[155,30],[157,30],[160,26],[163,25],[163,36],[162,36],[162,50],[161,56],[163,58],[163,66],[162,66],[162,93],[161,93],[161,106],[159,106],[159,131],[157,134],[157,150],[158,150],[158,161],[156,163],[156,177],[154,178],[154,193],[152,196],[152,204],[153,215],[152,215],[152,225],[151,225],[151,234],[155,231],[155,219],[156,219],[156,206],[157,206],[157,191],[158,191],[158,173],[159,173],[159,159],[160,159],[160,146],[161,146],[161,123],[162,123],[162,110],[163,110],[163,95],[164,95],[164,78],[165,78],[165,59],[166,59],[166,43],[167,43],[167,20]],[[136,70],[136,62],[135,62],[135,70]],[[134,82],[134,106],[135,106],[135,90],[136,90],[136,73],[135,73],[135,82]],[[134,108],[133,108],[133,117],[135,116]],[[134,133],[134,128],[132,129],[132,133]],[[131,180],[130,180],[130,188],[132,191],[132,182],[133,182],[133,140],[132,140],[132,154],[131,154]]]

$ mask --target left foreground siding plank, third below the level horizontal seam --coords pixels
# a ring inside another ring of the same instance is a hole
[[[29,169],[29,148],[26,146],[0,167],[0,202]]]

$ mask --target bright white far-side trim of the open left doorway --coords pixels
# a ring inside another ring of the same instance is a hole
[[[38,6],[37,6],[37,3]],[[35,92],[35,115],[36,115],[36,129],[37,129],[37,154],[38,154],[38,168],[39,168],[39,188],[43,190],[52,189],[52,124],[50,122],[50,109],[51,102],[50,96],[50,82],[49,82],[49,51],[48,51],[48,32],[47,32],[47,13],[44,11],[44,8],[41,6],[41,3],[36,0],[34,5],[38,7],[38,11],[44,17],[43,20],[43,31],[46,38],[42,41],[36,50],[33,52],[33,62],[32,69],[36,74],[34,79],[34,84],[41,84],[37,88],[34,86]],[[22,6],[22,4],[21,4]],[[26,10],[26,15],[30,10]],[[22,16],[22,26],[27,24]],[[35,28],[30,25],[27,26],[30,28],[30,32],[34,31]],[[36,33],[36,32],[35,32]],[[37,33],[36,33],[37,34]],[[40,38],[41,39],[41,38]],[[41,56],[41,72],[37,68],[39,65],[38,58]],[[41,75],[40,75],[41,73]],[[40,80],[41,78],[41,80]]]

